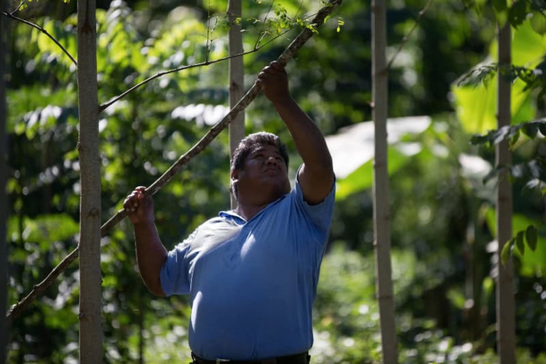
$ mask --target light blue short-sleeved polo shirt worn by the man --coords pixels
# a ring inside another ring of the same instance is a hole
[[[311,206],[296,178],[290,193],[249,221],[221,212],[169,252],[161,285],[167,296],[191,296],[195,354],[257,360],[311,348],[334,193]]]

